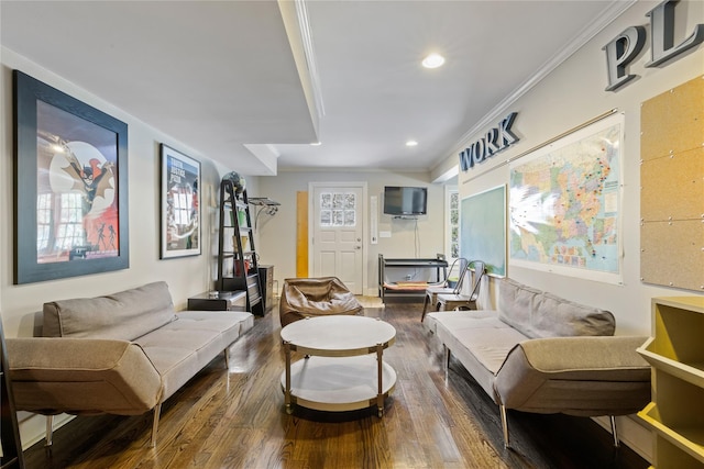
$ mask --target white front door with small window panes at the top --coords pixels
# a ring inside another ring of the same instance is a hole
[[[354,294],[364,290],[366,183],[311,183],[312,277],[337,277]]]

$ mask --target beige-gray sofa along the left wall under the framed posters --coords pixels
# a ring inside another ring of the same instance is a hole
[[[176,313],[165,282],[44,304],[43,336],[8,338],[19,411],[139,415],[161,406],[254,325],[248,312]]]

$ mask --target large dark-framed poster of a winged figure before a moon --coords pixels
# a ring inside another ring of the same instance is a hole
[[[130,266],[128,125],[19,70],[14,283]]]

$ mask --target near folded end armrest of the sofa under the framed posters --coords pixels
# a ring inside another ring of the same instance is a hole
[[[162,379],[142,347],[128,340],[8,338],[20,411],[142,414],[162,395]]]

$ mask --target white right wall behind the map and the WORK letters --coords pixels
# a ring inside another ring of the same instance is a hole
[[[640,104],[641,102],[704,74],[704,46],[685,53],[673,62],[658,68],[646,68],[650,60],[650,29],[644,52],[630,65],[629,72],[639,78],[623,86],[615,92],[605,91],[607,86],[606,58],[602,48],[628,26],[648,25],[646,13],[658,5],[657,2],[637,2],[619,19],[596,35],[587,45],[561,64],[546,79],[530,91],[510,103],[499,114],[518,112],[513,130],[520,142],[509,149],[482,163],[476,169],[459,176],[460,197],[482,192],[498,185],[509,183],[512,157],[534,148],[563,132],[573,129],[612,109],[625,114],[625,142],[623,153],[623,215],[624,261],[623,284],[608,284],[581,280],[540,270],[512,266],[508,260],[508,276],[541,290],[585,304],[609,310],[616,316],[617,334],[650,335],[652,297],[696,295],[702,292],[680,290],[640,281]],[[704,2],[683,1],[675,9],[676,41],[679,44],[689,36],[695,24],[704,23]],[[702,77],[704,78],[704,77]],[[498,121],[497,121],[498,122]],[[464,143],[483,136],[483,129]],[[457,154],[448,160],[459,161]],[[488,170],[488,171],[487,171]],[[484,174],[487,171],[486,174]],[[482,176],[483,175],[483,176]],[[494,287],[494,286],[493,286]],[[496,289],[492,288],[495,294]],[[605,421],[598,420],[603,425]],[[651,438],[638,420],[619,417],[620,436],[644,457],[651,455]]]

